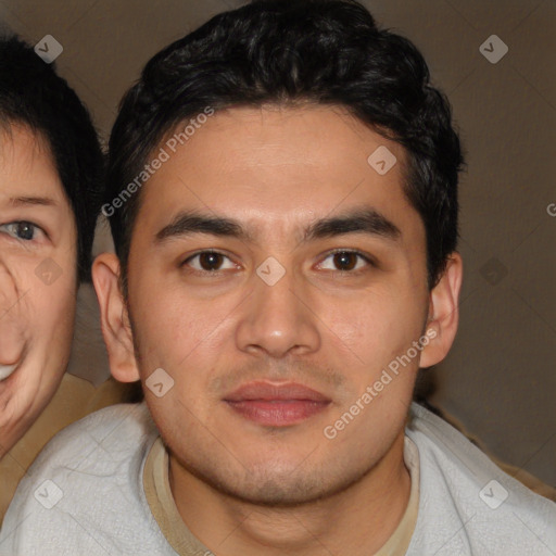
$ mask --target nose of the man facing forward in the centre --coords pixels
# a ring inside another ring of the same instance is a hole
[[[254,290],[245,300],[237,326],[236,342],[241,351],[281,358],[318,351],[318,317],[311,311],[303,288],[286,271],[274,285],[253,276]]]

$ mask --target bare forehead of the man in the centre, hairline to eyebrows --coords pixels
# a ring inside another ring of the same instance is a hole
[[[261,163],[253,162],[249,160],[253,152],[249,148],[244,149],[244,157],[243,154],[238,155],[238,152],[242,151],[243,138],[248,137],[248,144],[253,146],[253,142],[250,142],[253,141],[253,134],[250,137],[250,132],[245,131],[241,118],[248,117],[250,122],[254,121],[264,127],[273,116],[261,119],[262,111],[264,112],[263,109],[238,108],[222,114],[216,112],[212,121],[205,126],[200,126],[190,140],[180,146],[175,153],[168,153],[167,162],[149,178],[146,191],[141,194],[143,200],[140,212],[143,214],[140,218],[146,216],[143,210],[151,212],[154,208],[157,213],[156,225],[161,225],[156,233],[162,231],[164,225],[166,231],[163,235],[167,235],[173,220],[178,218],[178,212],[189,213],[204,208],[205,216],[210,213],[213,213],[213,216],[217,215],[213,220],[220,220],[220,231],[225,226],[227,235],[241,235],[245,240],[252,240],[258,231],[257,226],[261,227],[271,219],[279,224],[288,224],[289,229],[296,227],[298,235],[300,228],[306,228],[301,230],[302,238],[306,236],[314,239],[314,232],[318,232],[317,236],[320,237],[326,235],[326,226],[320,223],[319,226],[311,227],[309,220],[324,219],[326,215],[333,215],[338,220],[346,212],[354,213],[355,208],[366,207],[366,215],[349,215],[352,220],[355,216],[355,219],[359,220],[352,222],[350,226],[357,226],[362,231],[365,227],[374,227],[375,231],[379,228],[381,231],[397,228],[397,233],[400,232],[401,226],[393,222],[392,206],[400,207],[401,202],[406,204],[403,191],[404,149],[401,146],[363,125],[356,127],[354,134],[352,118],[350,125],[340,123],[339,128],[351,137],[356,149],[345,147],[345,141],[333,135],[328,139],[323,138],[321,130],[307,125],[306,130],[312,134],[309,139],[314,139],[315,144],[300,141],[294,134],[291,137],[278,134],[273,144],[278,144],[278,148],[285,144],[283,159],[270,156],[268,160],[263,159]],[[283,115],[286,122],[294,121],[290,117],[292,112],[311,112],[313,119],[309,123],[315,125],[323,122],[321,117],[345,117],[343,113],[337,114],[334,108],[326,106],[269,111],[277,118]],[[220,115],[225,119],[224,127],[217,125]],[[210,129],[217,135],[207,132]],[[239,136],[233,135],[235,130]],[[365,137],[362,134],[365,134]],[[256,132],[254,136],[256,137]],[[256,139],[254,142],[256,143]],[[260,142],[267,146],[264,140]],[[235,150],[231,152],[229,149]],[[339,153],[340,149],[343,151]],[[288,157],[290,153],[291,159]],[[264,156],[264,153],[261,156]],[[331,161],[331,156],[336,159]],[[273,166],[269,167],[270,164]],[[349,206],[353,206],[354,210],[346,211],[345,207]],[[376,214],[369,217],[368,212]],[[387,213],[390,217],[387,217]],[[190,227],[193,215],[188,216]],[[227,222],[224,223],[224,219]],[[303,222],[298,223],[298,219]],[[379,220],[381,224],[378,224]],[[201,223],[198,220],[195,226],[199,225]],[[212,229],[216,229],[215,226],[212,226]],[[393,236],[392,233],[391,237]]]

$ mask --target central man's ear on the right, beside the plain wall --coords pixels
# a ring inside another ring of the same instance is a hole
[[[453,252],[439,283],[431,290],[427,337],[429,343],[422,349],[419,366],[431,367],[440,363],[452,348],[459,320],[459,291],[464,275],[464,263],[459,253]]]

